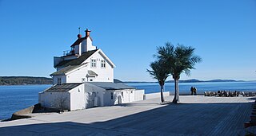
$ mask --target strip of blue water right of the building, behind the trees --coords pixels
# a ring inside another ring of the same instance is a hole
[[[145,89],[145,93],[159,92],[160,87],[157,83],[150,84],[127,84],[138,89]],[[198,93],[204,91],[256,91],[256,82],[203,82],[203,83],[179,83],[181,94],[189,94],[190,87],[197,88]],[[165,91],[174,94],[174,83],[166,83]]]

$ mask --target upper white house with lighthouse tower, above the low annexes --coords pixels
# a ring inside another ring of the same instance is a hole
[[[50,76],[53,76],[54,84],[114,82],[114,67],[105,53],[92,45],[90,31],[86,29],[86,37],[78,34],[70,52],[54,57],[57,72]]]

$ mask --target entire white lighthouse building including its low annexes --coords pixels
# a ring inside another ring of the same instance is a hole
[[[114,84],[114,63],[93,45],[90,30],[63,56],[54,56],[53,86],[39,93],[42,107],[69,111],[109,106],[143,99],[144,90]]]

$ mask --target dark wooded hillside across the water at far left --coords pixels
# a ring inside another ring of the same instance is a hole
[[[32,76],[0,76],[0,85],[52,84],[53,79]]]

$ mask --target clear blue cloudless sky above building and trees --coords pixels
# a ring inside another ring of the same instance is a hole
[[[152,80],[146,68],[166,41],[202,57],[182,80],[256,79],[255,0],[0,0],[0,76],[50,77],[79,26],[119,80]]]

